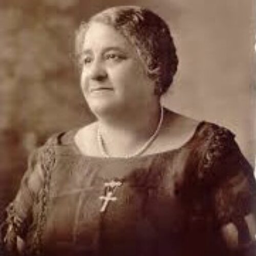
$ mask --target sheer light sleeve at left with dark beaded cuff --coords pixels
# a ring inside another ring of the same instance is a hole
[[[1,247],[8,255],[18,254],[17,239],[24,239],[33,221],[33,205],[47,194],[49,170],[55,161],[52,146],[42,146],[29,156],[28,168],[16,197],[6,208],[1,225]]]

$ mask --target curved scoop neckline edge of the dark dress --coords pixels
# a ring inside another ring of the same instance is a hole
[[[191,137],[184,142],[181,146],[177,147],[177,148],[173,148],[171,150],[166,150],[166,151],[161,151],[161,152],[156,152],[156,153],[152,153],[152,154],[147,154],[147,155],[141,155],[141,156],[134,156],[134,157],[129,157],[129,158],[125,158],[125,157],[103,157],[103,156],[91,156],[91,155],[84,155],[81,151],[80,148],[77,146],[76,142],[75,142],[75,135],[78,132],[79,128],[72,130],[71,132],[71,146],[73,148],[73,150],[75,151],[75,153],[79,156],[81,156],[84,159],[89,159],[89,160],[102,160],[102,161],[130,161],[130,160],[139,160],[139,159],[148,159],[148,158],[153,158],[153,157],[158,157],[161,155],[168,155],[177,151],[182,150],[183,147],[186,147],[188,144],[190,144],[195,137],[197,136],[197,134],[199,133],[199,131],[202,129],[202,127],[206,124],[207,122],[205,120],[200,121],[197,126],[196,129],[193,133],[193,135],[191,135]]]

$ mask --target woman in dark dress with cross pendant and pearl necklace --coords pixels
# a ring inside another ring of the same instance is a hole
[[[255,182],[234,135],[161,106],[178,65],[165,22],[107,9],[81,25],[76,54],[97,120],[32,154],[7,209],[6,251],[255,255]]]

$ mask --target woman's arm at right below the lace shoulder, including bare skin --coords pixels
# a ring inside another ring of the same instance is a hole
[[[216,217],[231,255],[256,255],[256,193],[255,182],[249,172],[252,174],[252,170],[240,169],[214,191]]]

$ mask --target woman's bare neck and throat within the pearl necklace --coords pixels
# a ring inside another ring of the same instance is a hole
[[[150,139],[155,133],[160,119],[160,104],[151,109],[139,109],[127,116],[109,119],[98,119],[98,129],[104,141],[106,152],[110,156],[131,155]],[[113,120],[114,119],[114,120]]]

